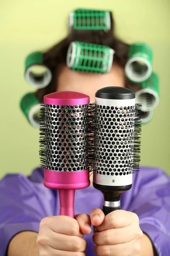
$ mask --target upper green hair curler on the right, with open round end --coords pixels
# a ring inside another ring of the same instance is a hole
[[[144,43],[130,45],[125,74],[133,83],[146,81],[152,73],[152,49]]]

